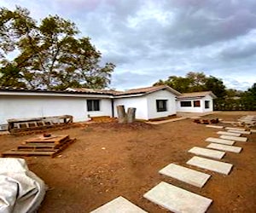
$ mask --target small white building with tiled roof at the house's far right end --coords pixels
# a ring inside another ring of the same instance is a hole
[[[211,91],[183,93],[177,96],[177,112],[212,112],[214,98]]]

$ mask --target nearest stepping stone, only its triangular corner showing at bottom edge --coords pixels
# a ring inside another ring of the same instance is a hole
[[[129,200],[118,197],[108,202],[107,204],[102,205],[96,210],[90,211],[90,213],[113,213],[113,212],[122,212],[122,213],[147,213],[143,209],[139,208],[137,205],[132,204]]]

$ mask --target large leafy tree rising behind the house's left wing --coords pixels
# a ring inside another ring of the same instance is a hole
[[[19,54],[11,63],[20,70],[19,80],[27,88],[67,89],[87,87],[102,89],[110,83],[114,65],[100,66],[101,53],[80,37],[70,20],[58,15],[38,24],[27,9],[0,9],[1,65],[14,50]]]

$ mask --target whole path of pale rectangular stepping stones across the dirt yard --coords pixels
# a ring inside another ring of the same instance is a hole
[[[171,121],[163,121],[158,123],[162,124],[166,122]],[[207,125],[207,127],[224,129],[224,126],[218,125]],[[195,166],[195,168],[198,167],[204,170],[211,170],[220,174],[229,175],[230,170],[233,167],[232,164],[209,158],[221,159],[224,157],[225,152],[241,153],[241,147],[235,147],[232,145],[236,141],[247,141],[247,137],[241,137],[241,134],[249,135],[251,132],[256,132],[256,130],[246,131],[245,129],[232,127],[226,127],[225,129],[227,131],[217,132],[217,134],[220,135],[220,138],[208,137],[206,139],[207,142],[211,142],[209,145],[207,145],[207,148],[192,147],[188,151],[189,153],[202,155],[208,158],[194,156],[193,158],[190,158],[186,164]],[[177,164],[168,164],[166,167],[160,170],[159,173],[161,175],[177,179],[178,181],[183,181],[195,187],[203,187],[211,177],[204,172],[192,170]],[[152,201],[154,204],[159,204],[160,206],[173,212],[206,212],[212,203],[212,199],[205,198],[196,193],[191,193],[183,188],[175,187],[172,184],[163,181],[145,193],[143,197]],[[144,213],[146,211],[137,205],[132,204],[129,200],[119,197],[91,212]]]

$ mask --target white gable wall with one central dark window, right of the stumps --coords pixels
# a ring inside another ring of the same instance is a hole
[[[156,100],[167,101],[167,111],[157,112]],[[167,90],[160,90],[147,95],[148,101],[148,119],[162,118],[168,115],[176,114],[176,96]]]

